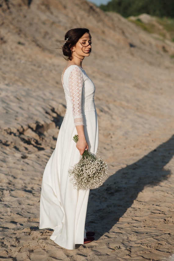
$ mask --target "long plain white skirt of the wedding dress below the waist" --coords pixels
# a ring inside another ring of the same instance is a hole
[[[98,148],[96,110],[84,112],[84,133],[89,151]],[[67,111],[60,127],[56,148],[43,174],[40,199],[40,229],[52,228],[50,237],[63,248],[74,249],[84,243],[85,218],[89,190],[78,191],[69,182],[68,169],[78,163],[81,155],[73,141],[77,134],[72,111]]]

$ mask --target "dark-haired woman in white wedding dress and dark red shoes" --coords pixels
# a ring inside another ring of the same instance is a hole
[[[94,232],[85,230],[89,190],[74,189],[68,176],[68,169],[78,163],[85,149],[96,154],[98,148],[95,86],[82,68],[83,59],[90,53],[88,29],[67,31],[63,54],[68,63],[62,74],[67,110],[42,180],[39,228],[52,228],[50,238],[67,249],[94,240]],[[73,141],[75,134],[77,144]]]

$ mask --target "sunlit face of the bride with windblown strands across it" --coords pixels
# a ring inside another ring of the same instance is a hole
[[[91,43],[89,33],[85,33],[72,48],[72,54],[80,59],[83,59],[85,56],[89,56],[91,52]]]

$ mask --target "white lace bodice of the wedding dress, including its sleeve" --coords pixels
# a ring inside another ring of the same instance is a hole
[[[67,112],[72,111],[74,125],[84,125],[85,112],[95,111],[95,86],[85,71],[77,65],[70,65],[62,77]]]

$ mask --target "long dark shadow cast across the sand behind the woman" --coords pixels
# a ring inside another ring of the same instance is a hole
[[[174,135],[135,163],[111,175],[89,195],[86,228],[96,239],[117,223],[145,186],[155,186],[170,176],[164,169],[174,155]],[[117,159],[116,159],[117,160]]]

